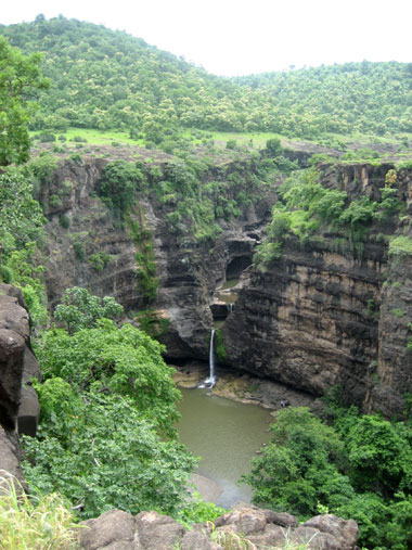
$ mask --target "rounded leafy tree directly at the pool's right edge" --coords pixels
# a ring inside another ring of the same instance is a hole
[[[307,517],[318,503],[350,500],[353,489],[339,472],[344,444],[333,429],[306,408],[289,408],[276,414],[270,430],[271,443],[243,476],[256,489],[255,503]]]

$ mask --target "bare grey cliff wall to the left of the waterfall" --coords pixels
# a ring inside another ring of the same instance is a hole
[[[73,285],[86,286],[100,296],[112,295],[129,312],[147,308],[137,284],[139,265],[132,235],[127,227],[114,226],[110,212],[96,196],[106,163],[89,158],[78,165],[66,159],[51,184],[43,188],[40,200],[50,220],[46,276],[51,308]],[[55,206],[53,195],[60,196]],[[153,235],[159,289],[151,307],[169,321],[163,336],[168,357],[206,359],[215,289],[226,281],[228,269],[230,277],[239,277],[243,267],[252,263],[254,247],[270,216],[273,194],[266,193],[241,219],[222,222],[223,231],[213,247],[210,243],[197,243],[189,234],[170,232],[165,209],[155,195],[138,195],[137,200]],[[68,218],[69,228],[62,227],[62,216]],[[95,253],[111,257],[101,271],[90,263]]]

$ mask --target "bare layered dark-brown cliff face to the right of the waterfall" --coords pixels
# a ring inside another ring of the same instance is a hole
[[[375,200],[390,168],[338,166],[323,180],[351,199]],[[398,179],[408,215],[411,175]],[[231,364],[314,395],[339,384],[365,410],[401,413],[412,391],[410,259],[388,260],[379,230],[400,228],[372,229],[358,257],[338,252],[333,235],[307,248],[291,239],[265,273],[252,270],[222,329]]]

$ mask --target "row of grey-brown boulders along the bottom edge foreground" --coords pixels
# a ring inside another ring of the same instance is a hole
[[[305,543],[317,550],[352,550],[358,539],[353,520],[332,514],[318,515],[299,525],[294,515],[240,506],[218,517],[214,524],[193,529],[158,512],[132,516],[120,510],[105,512],[83,522],[80,546],[86,550],[219,550],[228,548],[289,548]]]

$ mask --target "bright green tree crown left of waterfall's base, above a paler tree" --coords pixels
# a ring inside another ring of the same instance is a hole
[[[178,419],[180,397],[166,366],[163,346],[130,324],[117,329],[108,319],[73,335],[63,329],[47,331],[36,347],[44,379],[60,376],[77,393],[119,394],[169,434]]]

